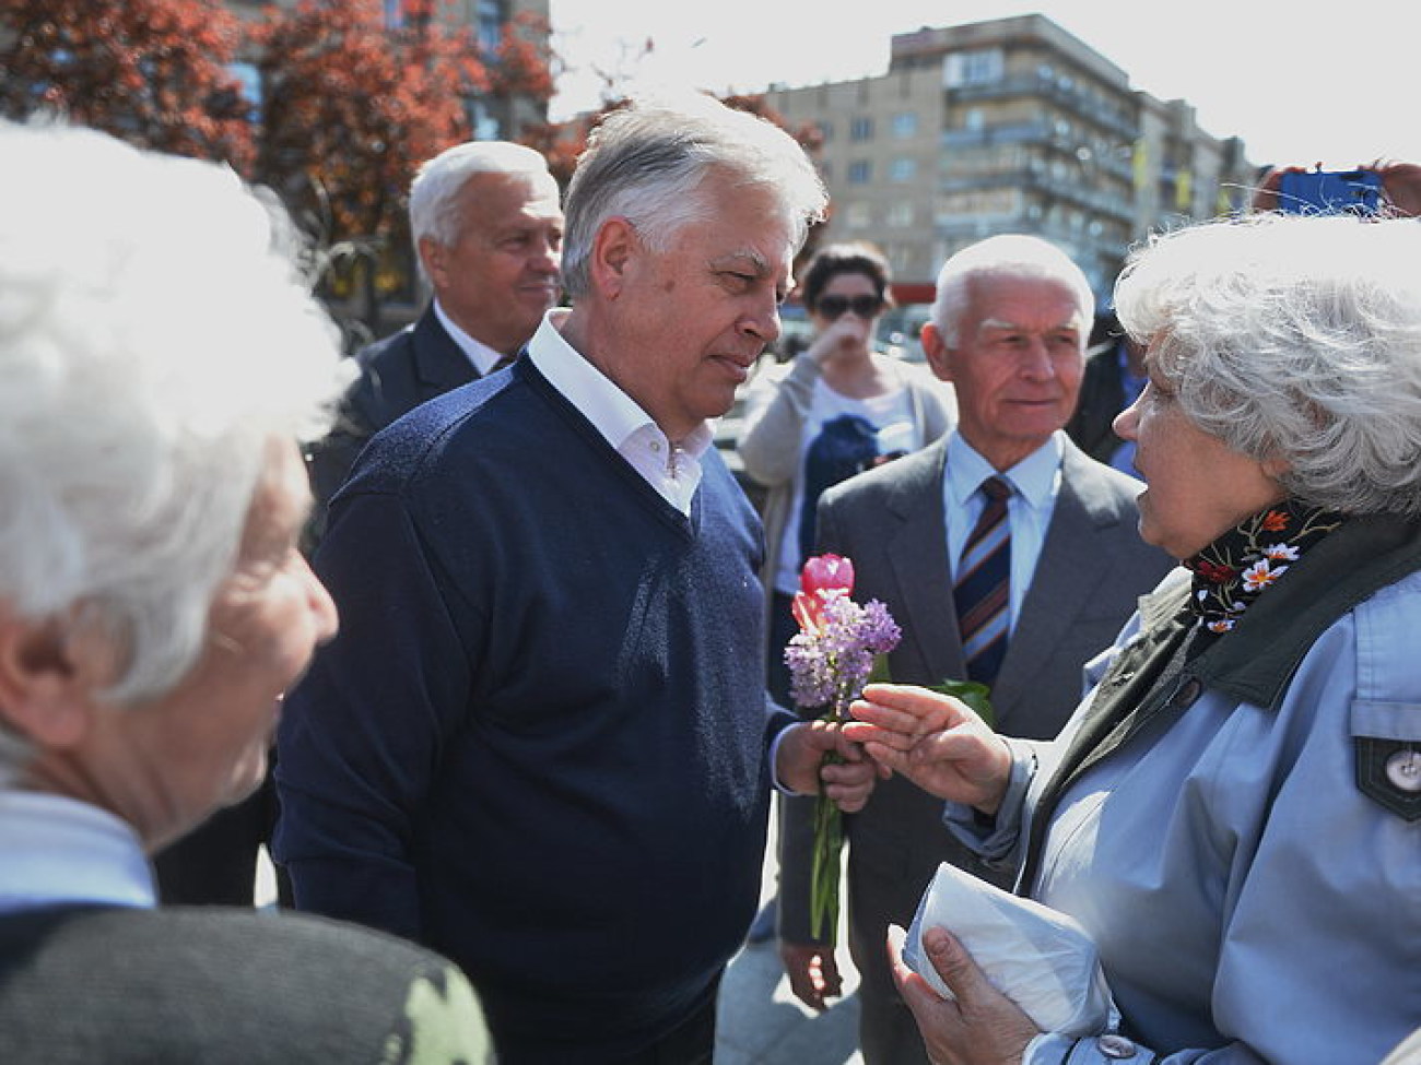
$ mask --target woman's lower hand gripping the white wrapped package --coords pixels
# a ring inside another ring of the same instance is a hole
[[[902,960],[904,932],[888,927],[888,964],[898,994],[912,1010],[934,1065],[1020,1065],[1040,1030],[1022,1008],[992,987],[972,956],[945,929],[928,929],[922,944],[956,1001],[938,998]]]

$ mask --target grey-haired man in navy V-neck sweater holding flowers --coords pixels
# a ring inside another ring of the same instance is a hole
[[[610,116],[529,358],[378,435],[317,569],[341,633],[287,700],[277,856],[301,909],[458,961],[500,1065],[709,1062],[772,784],[872,770],[762,690],[759,521],[708,419],[779,334],[824,206],[709,98]]]

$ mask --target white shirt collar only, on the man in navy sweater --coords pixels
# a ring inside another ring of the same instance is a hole
[[[662,439],[665,433],[641,406],[622,392],[611,378],[588,362],[558,331],[568,315],[567,308],[557,307],[543,315],[533,339],[529,341],[529,358],[539,372],[578,412],[595,426],[615,450],[621,452],[627,442],[645,430],[652,430]],[[675,442],[688,454],[699,459],[710,447],[715,429],[703,422],[684,440]],[[666,440],[668,447],[672,444]]]

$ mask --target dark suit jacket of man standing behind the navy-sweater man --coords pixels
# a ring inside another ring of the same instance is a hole
[[[325,528],[325,504],[345,483],[369,437],[421,403],[479,376],[439,324],[433,304],[416,322],[361,348],[354,359],[360,364],[360,379],[347,393],[331,435],[307,456],[317,538]]]

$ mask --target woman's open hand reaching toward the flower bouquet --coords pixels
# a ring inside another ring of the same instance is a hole
[[[844,734],[884,770],[901,772],[938,798],[996,814],[1012,774],[1012,753],[965,703],[925,687],[870,684]]]

